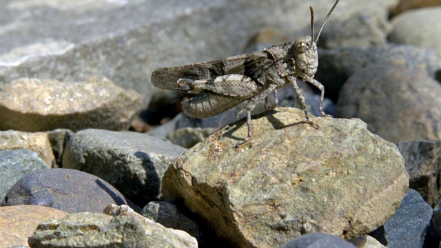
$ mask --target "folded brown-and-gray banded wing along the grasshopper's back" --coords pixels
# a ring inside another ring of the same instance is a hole
[[[153,85],[165,90],[179,90],[178,79],[214,79],[227,74],[242,74],[257,79],[274,60],[264,50],[231,56],[226,59],[195,63],[175,68],[159,68],[152,73]]]

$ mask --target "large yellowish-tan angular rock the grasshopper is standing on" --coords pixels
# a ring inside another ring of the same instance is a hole
[[[163,196],[183,200],[236,247],[275,247],[311,232],[355,238],[398,208],[409,176],[396,145],[353,119],[312,118],[294,108],[227,125],[177,158]]]

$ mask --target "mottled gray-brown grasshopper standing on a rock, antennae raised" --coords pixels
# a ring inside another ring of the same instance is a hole
[[[265,109],[274,109],[277,102],[277,89],[291,83],[305,112],[305,121],[318,128],[307,112],[305,97],[300,92],[296,78],[311,83],[320,91],[318,111],[322,111],[325,87],[314,79],[318,67],[317,43],[327,19],[336,8],[334,3],[314,41],[314,10],[311,6],[311,36],[297,39],[294,43],[273,45],[265,50],[250,52],[226,59],[195,63],[174,68],[159,68],[152,73],[151,81],[156,87],[166,90],[181,90],[185,93],[205,93],[183,102],[183,111],[192,118],[214,116],[247,101],[248,136],[236,147],[247,143],[252,137],[251,112],[257,103],[265,99]],[[274,106],[269,106],[268,94],[274,92]]]

